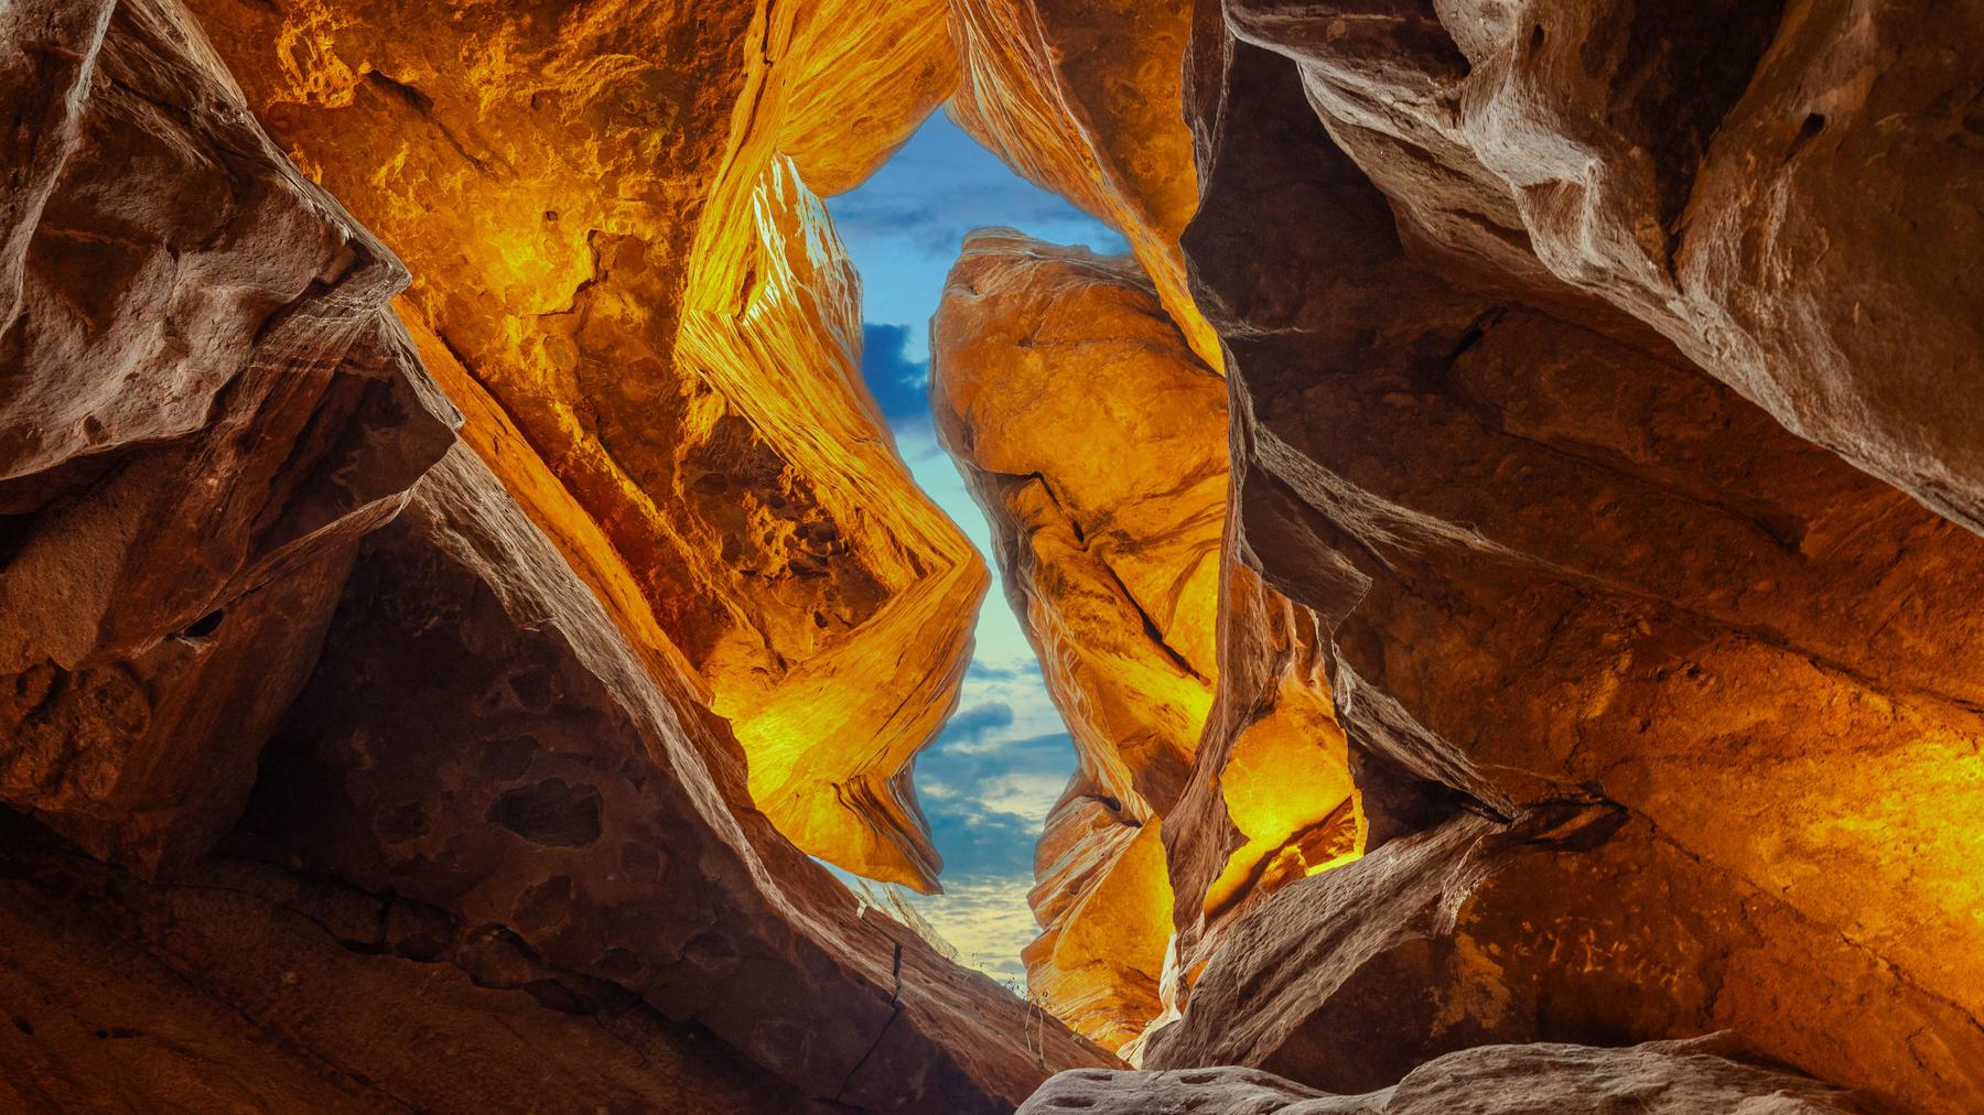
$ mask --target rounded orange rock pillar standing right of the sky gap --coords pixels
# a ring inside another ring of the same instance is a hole
[[[1224,665],[1226,389],[1133,260],[978,232],[932,337],[938,434],[992,520],[1081,760],[1040,843],[1030,986],[1123,1048],[1163,1010],[1165,847],[1196,853],[1180,875],[1194,930],[1349,851],[1343,738],[1321,679],[1254,653],[1272,641],[1262,623],[1230,641],[1246,696],[1220,698],[1212,766],[1194,766]],[[1230,589],[1254,593],[1248,617],[1290,611],[1258,581]],[[1165,823],[1180,802],[1184,829]]]

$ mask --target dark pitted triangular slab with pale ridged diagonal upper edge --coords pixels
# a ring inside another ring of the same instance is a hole
[[[1109,1061],[861,913],[750,809],[692,694],[456,448],[365,542],[242,827],[627,988],[811,1099],[1010,1111],[1048,1065]]]

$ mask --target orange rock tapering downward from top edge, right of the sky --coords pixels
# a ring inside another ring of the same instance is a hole
[[[1198,206],[1184,129],[1190,0],[952,0],[950,115],[1020,175],[1123,232],[1198,359],[1220,341],[1192,304],[1178,234]]]

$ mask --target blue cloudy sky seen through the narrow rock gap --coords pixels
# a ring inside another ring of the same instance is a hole
[[[911,474],[988,554],[984,514],[930,425],[930,315],[944,276],[964,234],[988,224],[1097,252],[1127,250],[1123,238],[1016,177],[944,113],[932,113],[859,188],[827,198],[827,210],[861,272],[861,373]],[[992,577],[958,712],[917,760],[917,790],[944,855],[946,893],[913,897],[913,905],[956,944],[960,960],[1024,986],[1020,948],[1036,932],[1026,905],[1034,841],[1075,754],[1040,663],[1006,607],[998,567]]]

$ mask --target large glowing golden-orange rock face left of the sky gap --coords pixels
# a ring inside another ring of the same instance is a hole
[[[859,284],[813,188],[859,183],[950,89],[942,6],[196,10],[270,131],[399,246],[464,436],[700,677],[758,807],[934,887],[909,762],[984,569],[861,387]]]

